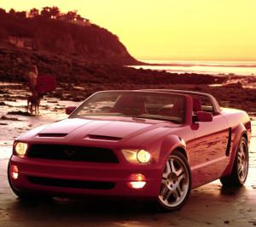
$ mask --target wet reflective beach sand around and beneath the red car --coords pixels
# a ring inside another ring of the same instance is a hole
[[[256,225],[256,118],[250,146],[247,183],[240,190],[224,190],[218,180],[192,191],[188,203],[174,213],[157,213],[137,201],[72,200],[20,201],[9,188],[7,165],[13,139],[38,125],[67,117],[65,106],[79,102],[47,98],[39,116],[7,114],[25,111],[26,90],[4,99],[0,116],[0,226],[253,226]],[[0,102],[3,99],[0,99]]]

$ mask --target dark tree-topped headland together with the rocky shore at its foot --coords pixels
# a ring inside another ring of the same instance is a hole
[[[134,69],[137,65],[119,38],[96,26],[77,11],[57,7],[6,12],[0,9],[0,81],[27,82],[27,73],[37,65],[39,75],[57,82],[86,82],[104,89],[132,85],[208,84],[224,78],[209,75],[177,75],[166,71]],[[103,86],[103,87],[102,87]],[[108,87],[107,86],[107,87]],[[106,88],[107,88],[106,87]]]

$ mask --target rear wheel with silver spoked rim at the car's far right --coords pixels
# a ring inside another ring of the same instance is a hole
[[[231,174],[219,179],[224,187],[241,187],[247,180],[248,163],[247,139],[241,137]]]

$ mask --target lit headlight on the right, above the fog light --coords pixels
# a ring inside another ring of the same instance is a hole
[[[147,163],[151,157],[147,150],[122,150],[122,153],[131,163]]]

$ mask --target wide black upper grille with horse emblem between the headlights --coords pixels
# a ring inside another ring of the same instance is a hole
[[[119,162],[113,150],[89,146],[37,144],[30,146],[27,156],[75,162]]]

